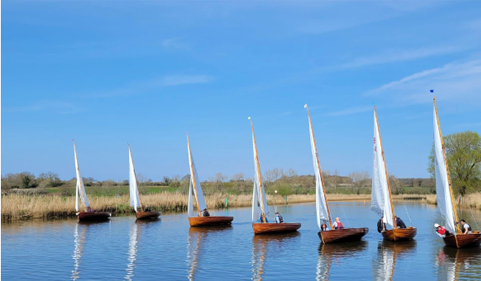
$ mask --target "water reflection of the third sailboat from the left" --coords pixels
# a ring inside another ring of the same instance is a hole
[[[195,279],[194,275],[200,258],[201,241],[208,239],[209,235],[217,235],[220,232],[231,230],[231,225],[213,225],[209,228],[192,226],[189,228],[189,236],[187,237],[187,279]]]

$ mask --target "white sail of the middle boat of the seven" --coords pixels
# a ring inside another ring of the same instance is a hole
[[[255,167],[254,190],[252,195],[252,221],[254,222],[259,220],[262,214],[262,208],[264,208],[264,212],[266,216],[268,212],[267,212],[266,194],[264,192],[264,187],[262,185],[262,179],[259,176],[261,174],[261,171],[260,171],[260,165],[258,162],[259,156],[257,155],[257,146],[256,146],[254,131],[252,131],[252,144],[253,144],[253,150],[254,150],[254,167]]]

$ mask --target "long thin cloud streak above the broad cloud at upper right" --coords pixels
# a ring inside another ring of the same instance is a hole
[[[459,47],[441,47],[441,48],[421,48],[414,50],[389,50],[382,54],[373,56],[359,57],[348,63],[340,65],[341,69],[355,68],[368,65],[379,65],[401,61],[411,61],[426,57],[445,55],[464,50]]]

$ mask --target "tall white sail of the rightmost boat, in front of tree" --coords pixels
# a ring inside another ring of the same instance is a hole
[[[444,160],[443,147],[441,143],[441,129],[438,126],[437,112],[434,108],[434,165],[436,171],[436,197],[438,201],[438,212],[446,219],[446,229],[451,233],[456,233],[456,219],[454,216],[454,206],[449,189],[446,162]]]

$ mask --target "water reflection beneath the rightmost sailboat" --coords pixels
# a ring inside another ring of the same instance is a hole
[[[435,265],[438,267],[438,280],[470,280],[479,278],[476,266],[481,264],[481,248],[466,248],[458,250],[449,246],[439,249]]]

